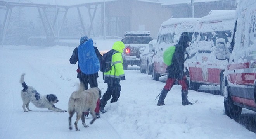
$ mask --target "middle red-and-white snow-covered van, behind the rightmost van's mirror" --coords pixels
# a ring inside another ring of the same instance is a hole
[[[220,85],[226,61],[216,59],[216,43],[230,45],[234,17],[235,10],[212,10],[200,19],[199,37],[192,41],[185,62],[191,90],[198,90],[200,85]]]

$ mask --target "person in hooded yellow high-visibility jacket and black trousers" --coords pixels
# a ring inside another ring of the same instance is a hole
[[[117,41],[112,46],[112,68],[111,70],[104,72],[104,83],[107,83],[107,91],[100,100],[100,112],[105,113],[104,110],[107,101],[111,98],[110,103],[117,102],[120,97],[121,85],[120,80],[125,80],[125,72],[123,70],[123,58],[122,52],[125,48],[125,44],[121,41]]]

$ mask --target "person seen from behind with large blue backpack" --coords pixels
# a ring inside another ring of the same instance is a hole
[[[76,64],[78,61],[77,78],[80,84],[83,84],[85,90],[88,89],[88,85],[91,88],[98,87],[98,71],[100,69],[100,62],[102,55],[97,47],[93,46],[93,40],[87,36],[83,36],[80,39],[80,45],[73,50],[72,56],[69,59],[70,64]],[[97,102],[95,113],[97,118],[100,118],[100,99]],[[85,115],[88,116],[88,112]]]

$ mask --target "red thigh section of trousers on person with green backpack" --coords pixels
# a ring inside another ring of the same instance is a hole
[[[164,86],[164,89],[170,91],[171,87],[173,87],[175,81],[176,81],[176,79],[174,79],[174,78],[167,78],[166,85]],[[184,91],[188,90],[187,79],[185,76],[182,78],[182,80],[178,80],[178,83],[179,83],[179,85],[182,86],[182,90],[184,90]]]

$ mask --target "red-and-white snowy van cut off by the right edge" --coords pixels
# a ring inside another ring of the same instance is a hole
[[[225,114],[239,117],[242,108],[256,111],[256,1],[240,0],[235,14],[230,47],[217,46],[216,58],[226,60],[224,79]]]

